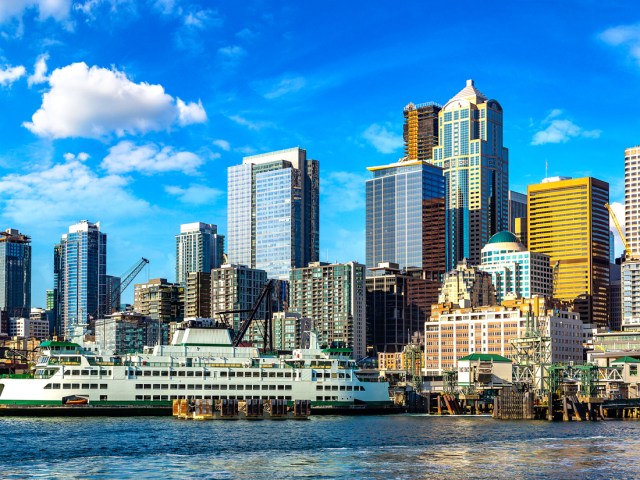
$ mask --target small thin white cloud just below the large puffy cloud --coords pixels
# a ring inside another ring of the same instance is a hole
[[[135,145],[122,141],[109,149],[102,161],[102,168],[111,174],[140,172],[145,175],[162,172],[197,173],[202,159],[192,152],[177,152],[172,147],[148,143]]]

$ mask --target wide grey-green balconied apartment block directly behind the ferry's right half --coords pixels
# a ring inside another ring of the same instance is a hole
[[[357,262],[310,263],[290,275],[289,310],[313,320],[323,347],[366,353],[366,268]]]

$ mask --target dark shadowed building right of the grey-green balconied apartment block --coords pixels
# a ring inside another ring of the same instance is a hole
[[[400,352],[421,332],[437,301],[430,281],[417,271],[402,271],[396,263],[380,263],[366,279],[367,350]]]

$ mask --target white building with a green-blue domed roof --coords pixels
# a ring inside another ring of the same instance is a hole
[[[508,296],[551,297],[553,271],[549,256],[531,252],[511,232],[499,232],[482,248],[480,270],[491,274],[497,303]]]

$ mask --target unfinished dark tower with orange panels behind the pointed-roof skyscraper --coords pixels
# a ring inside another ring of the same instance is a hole
[[[404,107],[404,154],[407,160],[422,162],[433,159],[438,145],[438,113],[442,105],[434,102]]]

